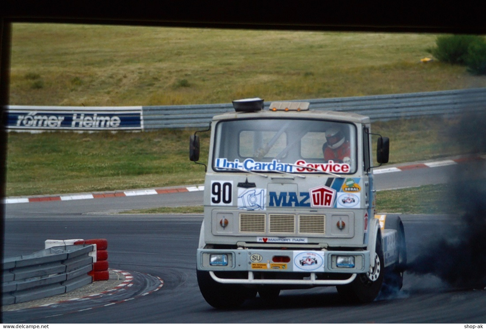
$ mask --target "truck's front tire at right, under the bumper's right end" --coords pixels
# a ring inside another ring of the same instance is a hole
[[[382,237],[377,236],[374,266],[368,273],[358,274],[356,279],[346,285],[336,286],[339,295],[352,303],[369,303],[380,293],[384,276]]]

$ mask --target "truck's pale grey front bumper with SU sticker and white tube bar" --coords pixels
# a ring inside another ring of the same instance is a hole
[[[338,250],[197,249],[197,269],[221,283],[346,284],[370,270],[370,252]],[[214,272],[248,272],[247,278],[220,278]],[[260,272],[259,274],[257,274]],[[261,275],[263,273],[263,275]],[[274,275],[267,276],[265,273]],[[302,279],[285,274],[299,273]],[[306,274],[307,273],[307,274]],[[321,273],[349,274],[344,280],[319,280]],[[259,277],[260,279],[255,279]],[[275,279],[279,277],[281,279]]]

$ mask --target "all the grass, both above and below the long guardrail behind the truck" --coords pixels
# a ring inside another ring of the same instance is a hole
[[[463,66],[420,59],[436,35],[13,25],[10,103],[170,105],[485,87]],[[453,120],[378,122],[390,163],[457,155]],[[192,131],[9,133],[7,196],[201,183]],[[208,134],[202,134],[202,161]]]

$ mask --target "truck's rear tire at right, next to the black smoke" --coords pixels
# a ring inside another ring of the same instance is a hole
[[[385,220],[385,229],[397,230],[398,232],[398,261],[388,266],[383,278],[382,295],[390,296],[399,292],[403,286],[403,272],[407,265],[407,247],[405,243],[405,230],[399,216],[390,216]]]

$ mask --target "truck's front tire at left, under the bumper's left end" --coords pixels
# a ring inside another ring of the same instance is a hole
[[[199,290],[209,305],[216,309],[235,309],[246,298],[255,297],[256,289],[249,289],[241,284],[224,284],[214,281],[209,272],[197,270]]]

